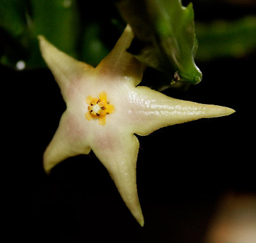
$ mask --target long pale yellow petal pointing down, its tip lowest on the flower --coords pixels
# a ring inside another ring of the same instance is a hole
[[[136,185],[136,161],[140,144],[132,134],[110,134],[109,139],[105,139],[104,135],[102,139],[98,138],[97,147],[92,146],[93,152],[108,169],[132,215],[143,226],[144,219]]]

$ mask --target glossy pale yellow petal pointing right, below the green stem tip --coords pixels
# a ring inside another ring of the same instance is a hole
[[[201,118],[221,117],[235,112],[228,107],[170,98],[148,87],[134,88],[129,97],[131,108],[127,116],[131,120],[132,132],[138,135],[148,135],[164,126]]]

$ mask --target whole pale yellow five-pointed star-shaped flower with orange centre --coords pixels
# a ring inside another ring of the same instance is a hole
[[[133,38],[127,26],[113,50],[96,68],[61,52],[38,36],[45,62],[61,89],[67,110],[44,153],[44,168],[91,149],[106,166],[125,204],[144,224],[136,186],[140,144],[134,135],[234,110],[173,99],[148,87],[137,86],[143,65],[126,52]],[[136,87],[137,86],[137,87]]]

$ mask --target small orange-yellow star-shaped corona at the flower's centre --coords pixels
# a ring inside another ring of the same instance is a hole
[[[92,98],[92,96],[86,97],[86,103],[88,106],[88,112],[86,112],[85,117],[88,121],[94,119],[99,119],[99,124],[104,126],[106,124],[106,115],[113,113],[115,111],[114,105],[109,105],[107,102],[107,93],[101,91],[99,99]]]

